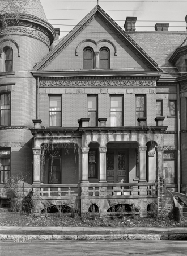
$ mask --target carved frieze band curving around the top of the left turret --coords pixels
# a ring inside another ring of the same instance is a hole
[[[50,46],[50,40],[48,36],[44,35],[42,32],[37,30],[32,30],[29,28],[24,27],[9,27],[6,30],[6,34],[24,34],[24,35],[30,35],[30,36],[36,36],[37,38],[43,40],[45,43],[47,43]],[[0,35],[5,34],[5,31],[0,30]]]

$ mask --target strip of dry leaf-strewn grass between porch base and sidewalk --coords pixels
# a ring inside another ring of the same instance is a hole
[[[112,227],[134,227],[134,226],[147,226],[147,227],[175,227],[185,226],[187,227],[187,221],[184,220],[181,223],[165,218],[164,220],[158,220],[156,218],[146,217],[134,217],[131,216],[115,216],[114,220],[111,217],[100,218],[95,216],[93,219],[91,216],[81,218],[80,216],[71,217],[65,214],[57,213],[55,216],[34,217],[26,214],[1,212],[0,213],[0,226],[112,226]]]

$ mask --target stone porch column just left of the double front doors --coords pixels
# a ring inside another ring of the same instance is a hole
[[[106,163],[107,147],[99,147],[99,182],[107,182],[107,163]]]

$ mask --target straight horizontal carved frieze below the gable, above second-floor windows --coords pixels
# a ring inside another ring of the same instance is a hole
[[[137,77],[135,78],[137,79]],[[40,80],[40,87],[68,87],[68,86],[156,86],[156,81],[152,80]]]

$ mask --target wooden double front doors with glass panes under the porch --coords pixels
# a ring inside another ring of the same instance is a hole
[[[107,182],[128,182],[126,150],[107,150]]]

